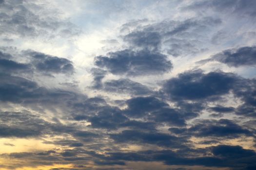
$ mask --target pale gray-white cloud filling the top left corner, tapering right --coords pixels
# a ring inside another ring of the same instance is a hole
[[[67,19],[57,15],[56,11],[48,10],[45,4],[28,1],[1,2],[0,29],[1,35],[6,37],[36,37],[74,36],[79,29]],[[41,11],[41,13],[40,13]],[[44,13],[42,13],[44,12]],[[49,15],[50,14],[50,15]],[[53,17],[53,15],[55,17]]]

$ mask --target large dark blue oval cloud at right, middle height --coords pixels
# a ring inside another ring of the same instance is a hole
[[[236,79],[232,73],[189,71],[168,80],[163,91],[174,101],[219,98],[229,93]]]

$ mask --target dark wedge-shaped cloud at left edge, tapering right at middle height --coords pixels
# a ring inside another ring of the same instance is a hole
[[[55,104],[78,99],[79,94],[61,89],[47,89],[28,79],[0,74],[0,101],[22,104]],[[86,98],[83,96],[82,98]]]

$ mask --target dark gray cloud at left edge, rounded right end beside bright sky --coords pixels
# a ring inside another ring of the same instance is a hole
[[[65,58],[51,56],[37,51],[22,51],[21,54],[14,51],[17,55],[28,58],[28,62],[19,63],[15,61],[16,56],[0,51],[0,72],[2,73],[25,73],[33,74],[53,74],[63,73],[72,74],[74,72],[73,63]]]

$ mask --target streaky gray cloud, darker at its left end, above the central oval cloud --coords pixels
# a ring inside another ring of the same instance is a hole
[[[218,17],[195,17],[178,21],[166,19],[148,25],[124,24],[122,30],[131,31],[123,36],[123,40],[131,49],[165,51],[174,57],[191,55],[207,50],[202,41],[208,37],[207,32],[212,26],[221,22]]]

